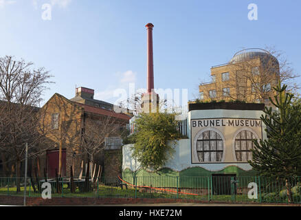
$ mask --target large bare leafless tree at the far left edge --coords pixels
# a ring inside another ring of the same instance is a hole
[[[12,56],[0,58],[0,150],[14,160],[16,177],[21,176],[25,143],[29,146],[29,157],[43,152],[44,135],[38,132],[41,116],[38,105],[51,77],[45,68],[36,69],[31,62],[15,61]]]

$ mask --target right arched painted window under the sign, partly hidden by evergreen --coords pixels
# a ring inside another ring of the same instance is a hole
[[[254,148],[254,143],[252,140],[258,139],[257,135],[249,130],[240,131],[234,140],[234,150],[236,161],[247,162],[252,160],[251,149]]]

